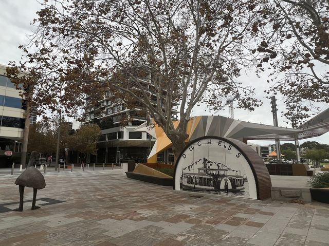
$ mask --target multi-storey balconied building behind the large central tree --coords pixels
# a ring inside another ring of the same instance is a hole
[[[148,85],[146,81],[144,80],[144,83]],[[150,90],[149,86],[148,89]],[[111,97],[111,92],[107,91],[103,100],[96,104],[86,99],[86,122],[96,123],[102,128],[102,135],[97,143],[97,156],[90,158],[90,162],[147,162],[156,139],[148,133],[134,131],[137,126],[147,121],[147,111],[137,101],[134,108],[128,108],[120,101],[114,104]],[[154,102],[156,103],[155,99]],[[173,110],[172,119],[177,119],[177,114],[178,112]],[[159,161],[166,161],[165,159]]]

